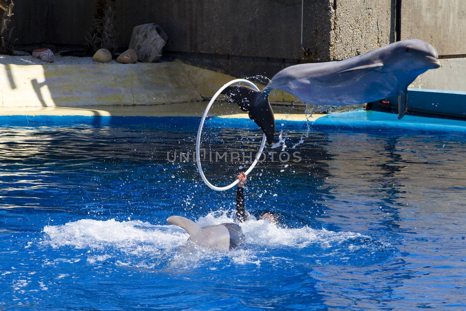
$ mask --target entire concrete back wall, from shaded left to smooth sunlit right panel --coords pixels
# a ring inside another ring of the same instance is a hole
[[[86,45],[96,0],[15,3],[18,44]],[[169,35],[167,59],[237,77],[270,78],[296,63],[346,59],[395,40],[395,0],[305,0],[308,54],[300,46],[301,0],[118,0],[116,11],[120,48],[127,48],[134,26],[156,22]],[[464,57],[466,0],[402,1],[401,35],[430,42],[439,55]],[[455,68],[466,70],[463,63]],[[438,83],[423,75],[415,85],[466,89],[463,80],[452,81],[454,74],[435,72]]]

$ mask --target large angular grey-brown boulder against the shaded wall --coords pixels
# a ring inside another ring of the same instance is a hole
[[[144,24],[133,28],[130,48],[141,62],[153,62],[168,40],[167,34],[157,24]]]

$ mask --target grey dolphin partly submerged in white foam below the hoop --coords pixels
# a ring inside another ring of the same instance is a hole
[[[235,223],[222,223],[201,228],[194,221],[182,216],[170,216],[167,222],[183,228],[189,233],[189,240],[192,242],[212,249],[234,249],[246,241],[243,230]]]

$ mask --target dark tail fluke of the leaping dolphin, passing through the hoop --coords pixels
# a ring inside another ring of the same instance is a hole
[[[246,111],[249,118],[259,125],[267,138],[267,144],[271,145],[274,142],[275,118],[268,101],[267,90],[257,91],[248,86],[235,85],[227,87],[222,94],[231,97],[240,109]]]

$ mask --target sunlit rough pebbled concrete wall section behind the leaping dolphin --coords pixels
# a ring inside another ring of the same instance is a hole
[[[329,58],[342,60],[394,42],[394,12],[391,0],[334,1]]]

